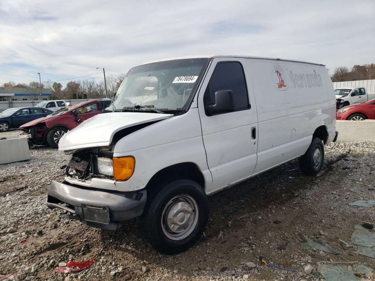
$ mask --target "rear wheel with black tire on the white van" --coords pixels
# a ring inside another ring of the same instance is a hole
[[[317,161],[318,158],[319,161]],[[300,170],[304,175],[315,176],[320,172],[320,169],[323,166],[323,161],[323,142],[320,138],[314,138],[306,153],[299,158]]]

